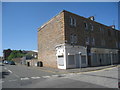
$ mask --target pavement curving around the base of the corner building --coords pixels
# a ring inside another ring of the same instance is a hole
[[[49,68],[49,67],[35,67],[31,66],[33,68],[40,69],[42,71],[46,72],[52,72],[52,73],[58,73],[58,74],[67,74],[67,73],[83,73],[83,72],[93,72],[93,71],[98,71],[98,70],[107,70],[111,69],[113,67],[120,67],[120,64],[116,65],[108,65],[108,66],[97,66],[97,67],[86,67],[86,68],[75,68],[75,69],[56,69],[56,68]]]

